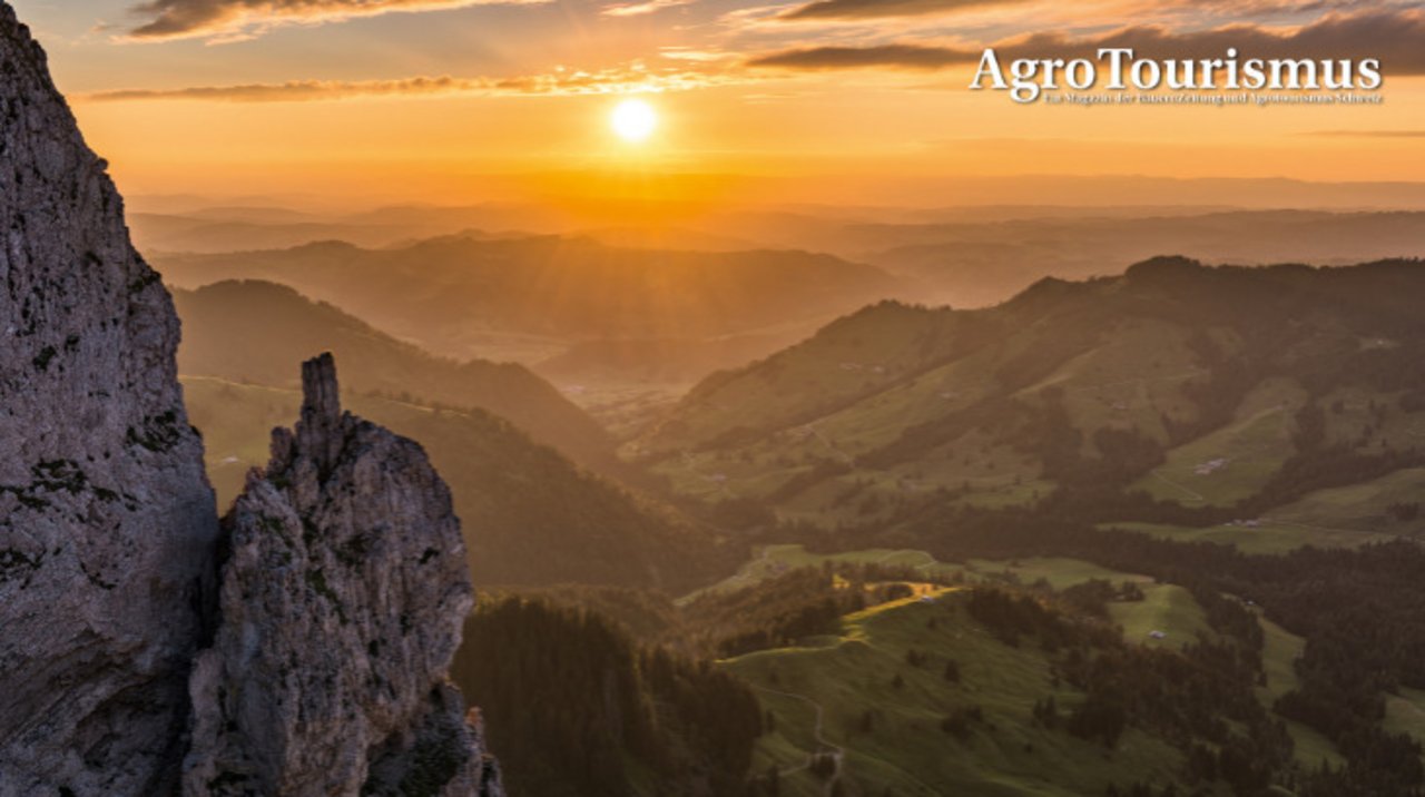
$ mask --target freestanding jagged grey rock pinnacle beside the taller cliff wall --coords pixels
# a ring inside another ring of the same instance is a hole
[[[224,520],[184,793],[497,794],[446,683],[473,603],[450,492],[415,442],[342,413],[331,355],[302,384]]]

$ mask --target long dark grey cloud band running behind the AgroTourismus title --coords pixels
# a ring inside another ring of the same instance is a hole
[[[1235,47],[1243,58],[1379,58],[1391,76],[1425,74],[1425,10],[1374,10],[1328,14],[1295,29],[1254,24],[1174,33],[1161,26],[1134,26],[1094,37],[1039,33],[992,44],[1000,58],[1070,58],[1099,47],[1130,47],[1146,58],[1221,58]],[[980,51],[926,44],[875,47],[811,47],[754,57],[752,67],[797,70],[901,68],[931,70],[978,63]]]

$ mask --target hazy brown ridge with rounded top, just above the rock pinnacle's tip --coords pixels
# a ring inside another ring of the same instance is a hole
[[[304,358],[331,351],[352,391],[486,409],[581,462],[608,459],[598,425],[522,365],[432,356],[272,282],[219,282],[175,291],[174,301],[184,322],[184,375],[292,388]]]

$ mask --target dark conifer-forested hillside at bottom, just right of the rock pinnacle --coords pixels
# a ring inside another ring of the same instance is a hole
[[[519,597],[479,606],[465,639],[452,679],[479,701],[512,793],[745,794],[762,717],[735,677]]]

